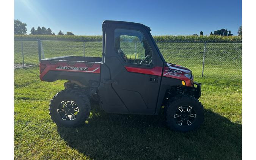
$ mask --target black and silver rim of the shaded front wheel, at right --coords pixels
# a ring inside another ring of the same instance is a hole
[[[196,119],[196,113],[191,106],[180,106],[173,115],[179,126],[190,126]]]

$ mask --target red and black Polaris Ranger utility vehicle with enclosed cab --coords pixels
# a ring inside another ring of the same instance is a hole
[[[49,104],[57,125],[84,124],[91,102],[98,102],[107,113],[140,115],[158,115],[164,106],[172,130],[189,131],[202,124],[201,83],[194,82],[189,69],[165,61],[149,27],[105,20],[102,31],[102,58],[41,60],[42,81],[68,80]]]

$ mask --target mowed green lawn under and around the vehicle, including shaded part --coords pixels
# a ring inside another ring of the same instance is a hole
[[[228,72],[228,71],[227,71]],[[196,131],[173,132],[158,116],[105,113],[93,105],[80,128],[54,124],[50,99],[64,80],[42,82],[39,68],[15,70],[15,159],[241,159],[242,80],[201,78],[205,121]]]

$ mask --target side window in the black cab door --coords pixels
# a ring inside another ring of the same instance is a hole
[[[152,50],[140,31],[115,29],[115,50],[126,63],[152,64]]]

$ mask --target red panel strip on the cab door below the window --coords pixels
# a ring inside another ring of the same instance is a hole
[[[163,67],[154,67],[152,69],[144,69],[144,68],[137,68],[137,67],[125,67],[128,72],[136,72],[136,73],[143,73],[143,74],[150,74],[150,75],[162,75]]]

